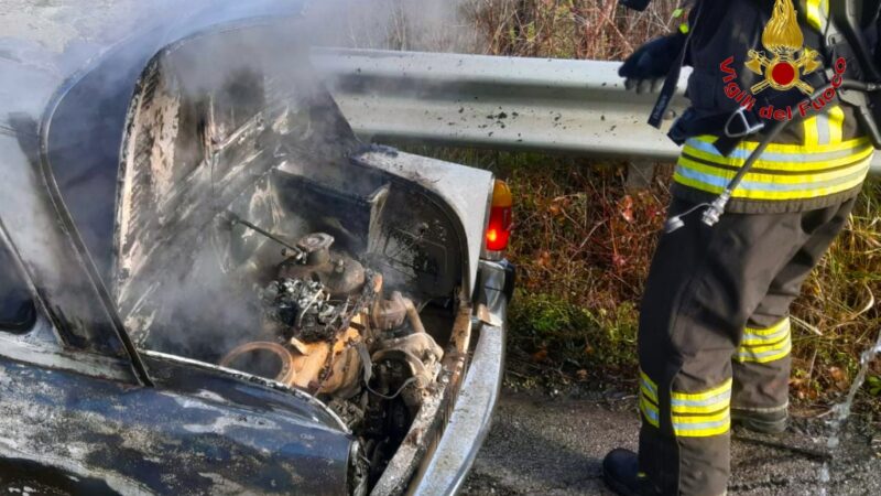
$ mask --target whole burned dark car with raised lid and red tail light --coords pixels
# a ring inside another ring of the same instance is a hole
[[[461,484],[501,381],[510,195],[359,141],[278,3],[68,78],[3,58],[28,97],[0,93],[0,481]]]

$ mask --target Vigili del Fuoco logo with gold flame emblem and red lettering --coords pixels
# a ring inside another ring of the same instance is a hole
[[[764,79],[749,89],[741,88],[737,83],[737,71],[731,67],[735,63],[733,56],[726,58],[720,64],[719,68],[725,74],[724,80],[727,83],[725,94],[728,98],[737,101],[747,110],[753,110],[757,103],[755,95],[769,89],[786,91],[797,88],[807,96],[795,110],[792,106],[775,108],[773,104],[759,109],[759,117],[774,120],[792,120],[796,111],[801,117],[806,117],[812,108],[820,111],[835,99],[838,87],[841,86],[842,74],[847,69],[847,62],[842,57],[835,61],[833,87],[823,95],[811,99],[815,88],[802,80],[802,77],[820,69],[822,63],[817,60],[819,56],[817,51],[804,46],[804,33],[798,25],[798,18],[792,0],[775,0],[771,20],[762,32],[762,45],[765,51],[749,51],[746,67],[752,73],[763,76]]]

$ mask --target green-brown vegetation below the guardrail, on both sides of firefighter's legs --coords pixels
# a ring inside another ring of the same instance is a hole
[[[628,192],[622,169],[519,163],[511,258],[512,358],[546,363],[577,379],[630,377],[642,283],[668,200],[668,171]],[[502,159],[500,163],[504,163]],[[499,168],[502,175],[504,168]],[[848,229],[793,306],[793,392],[818,405],[850,385],[860,354],[881,331],[881,183],[867,184]],[[881,364],[866,392],[881,396]],[[586,370],[585,373],[578,373]]]

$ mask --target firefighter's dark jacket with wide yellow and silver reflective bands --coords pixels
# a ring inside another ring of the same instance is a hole
[[[800,68],[796,77],[819,89],[829,80],[826,69],[833,68],[838,58],[838,55],[824,53],[822,35],[828,23],[828,2],[835,0],[784,1],[794,2],[804,46],[818,52],[816,60],[823,64],[812,74],[801,74],[803,69]],[[878,4],[877,1],[867,3]],[[699,0],[690,17],[686,60],[694,67],[687,88],[692,108],[677,126],[687,128],[693,123],[688,119],[699,122],[707,116],[727,116],[741,106],[737,95],[730,93],[731,82],[725,79],[730,74],[721,68],[726,60],[737,73],[733,83],[755,99],[754,111],[773,105],[784,112],[791,108],[794,118],[735,191],[729,212],[802,212],[840,204],[859,193],[873,154],[870,140],[847,104],[836,99],[823,106],[822,111],[812,107],[807,117],[801,119],[798,104],[809,99],[804,91],[797,88],[783,91],[772,87],[751,91],[753,85],[765,77],[747,67],[750,51],[761,52],[766,61],[773,61],[775,56],[762,41],[774,8],[775,0]],[[869,20],[866,24],[873,26],[878,7],[868,10],[870,12],[863,15]],[[805,51],[797,53],[804,54]],[[853,61],[848,61],[844,77],[858,77],[853,71],[859,68]],[[733,152],[724,155],[714,147],[718,136],[718,129],[697,128],[685,141],[674,175],[675,196],[692,202],[711,201],[762,140],[761,132],[753,134],[741,141]]]

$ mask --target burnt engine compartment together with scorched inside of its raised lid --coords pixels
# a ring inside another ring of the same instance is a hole
[[[250,36],[222,43],[265,43]],[[359,441],[356,485],[372,487],[414,422],[439,422],[438,398],[453,395],[440,382],[464,366],[464,226],[426,180],[389,171],[413,159],[355,139],[311,72],[259,56],[200,65],[218,43],[167,48],[135,91],[118,192],[120,315],[142,349],[324,401]],[[429,441],[416,431],[413,442]]]

